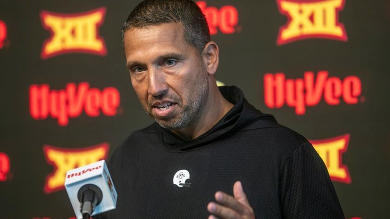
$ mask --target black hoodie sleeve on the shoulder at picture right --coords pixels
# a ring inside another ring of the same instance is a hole
[[[313,146],[291,153],[280,175],[283,218],[345,218],[328,170]]]

